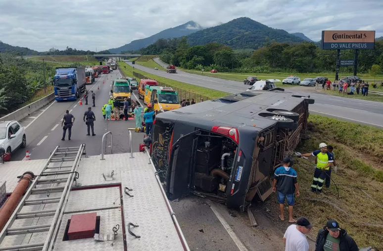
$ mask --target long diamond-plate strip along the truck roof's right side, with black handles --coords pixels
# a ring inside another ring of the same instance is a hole
[[[183,247],[170,217],[169,210],[158,188],[152,167],[147,158],[131,159],[121,173],[122,189],[133,189],[123,194],[125,232],[129,251],[183,251]],[[131,228],[140,235],[136,239],[128,233],[128,223],[139,225]]]

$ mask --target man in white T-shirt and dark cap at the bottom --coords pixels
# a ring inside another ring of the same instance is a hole
[[[285,251],[308,251],[309,245],[306,234],[310,232],[312,227],[313,225],[305,217],[300,217],[296,221],[296,225],[290,225],[283,237]]]

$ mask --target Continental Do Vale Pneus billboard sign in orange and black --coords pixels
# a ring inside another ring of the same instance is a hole
[[[375,31],[322,31],[322,49],[374,49]]]

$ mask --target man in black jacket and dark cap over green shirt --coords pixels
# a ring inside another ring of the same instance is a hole
[[[329,220],[318,232],[315,251],[359,251],[359,249],[354,239],[346,230],[339,227],[336,220]]]

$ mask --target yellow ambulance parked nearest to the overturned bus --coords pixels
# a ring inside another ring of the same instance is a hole
[[[178,92],[172,87],[146,85],[144,104],[151,104],[153,110],[165,112],[181,107]]]

